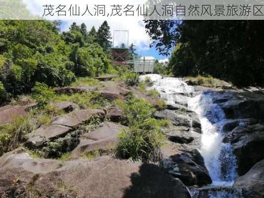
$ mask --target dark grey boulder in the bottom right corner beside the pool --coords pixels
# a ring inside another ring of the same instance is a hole
[[[264,198],[264,160],[237,178],[233,188],[240,191],[243,198]]]

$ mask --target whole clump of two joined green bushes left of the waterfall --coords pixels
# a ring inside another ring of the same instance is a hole
[[[162,129],[169,125],[167,120],[152,118],[155,108],[143,99],[129,96],[126,102],[117,100],[122,109],[122,124],[129,126],[119,136],[116,156],[120,158],[139,160],[143,162],[158,161],[160,147],[164,136]]]

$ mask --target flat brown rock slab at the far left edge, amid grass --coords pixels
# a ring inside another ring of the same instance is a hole
[[[28,105],[6,105],[0,107],[0,124],[7,124],[17,116],[24,116],[27,114],[27,109],[36,104]]]

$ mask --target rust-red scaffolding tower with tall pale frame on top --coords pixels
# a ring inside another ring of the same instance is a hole
[[[127,30],[114,30],[112,42],[112,64],[127,65],[129,44],[128,44],[129,31]]]

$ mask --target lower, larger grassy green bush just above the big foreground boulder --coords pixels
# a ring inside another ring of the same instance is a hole
[[[164,120],[149,118],[124,130],[119,135],[116,156],[146,163],[159,161],[160,147],[165,139],[161,130],[168,124]]]

